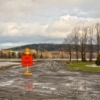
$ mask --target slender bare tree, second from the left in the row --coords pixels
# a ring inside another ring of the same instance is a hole
[[[76,52],[76,59],[78,61],[78,58],[79,58],[79,27],[75,27],[73,30],[72,30],[72,33],[73,33],[73,43],[74,43],[74,46],[75,46],[75,52]]]

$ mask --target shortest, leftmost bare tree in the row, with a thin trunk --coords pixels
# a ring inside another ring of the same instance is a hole
[[[67,51],[69,53],[69,58],[70,58],[70,61],[72,59],[72,34],[68,34],[66,36],[66,38],[64,39],[64,42],[63,42],[67,48]]]

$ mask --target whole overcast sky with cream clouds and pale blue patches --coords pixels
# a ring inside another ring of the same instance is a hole
[[[0,48],[62,43],[75,26],[100,22],[100,0],[0,0]]]

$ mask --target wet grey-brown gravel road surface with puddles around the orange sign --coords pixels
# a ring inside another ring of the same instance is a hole
[[[0,100],[100,100],[100,74],[69,71],[63,64],[44,61],[30,68],[0,71]]]

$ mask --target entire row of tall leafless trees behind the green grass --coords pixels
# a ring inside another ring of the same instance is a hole
[[[100,52],[100,23],[96,23],[93,27],[75,27],[70,34],[64,39],[64,45],[69,52],[70,61],[72,59],[72,51],[76,53],[76,60],[81,55],[81,60],[86,61],[86,53],[89,53],[89,60],[93,59],[93,52]],[[95,48],[94,48],[95,46]]]

